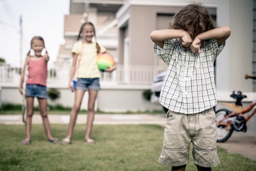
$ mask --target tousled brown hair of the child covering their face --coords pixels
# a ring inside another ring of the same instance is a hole
[[[173,22],[169,23],[169,29],[186,30],[187,26],[194,28],[195,38],[198,34],[217,28],[215,21],[202,4],[189,4],[174,15]]]

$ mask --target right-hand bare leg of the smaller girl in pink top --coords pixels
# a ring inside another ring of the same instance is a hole
[[[52,134],[51,134],[51,127],[50,127],[50,122],[49,118],[47,115],[47,99],[46,98],[38,98],[38,103],[39,103],[39,110],[40,110],[40,115],[42,117],[42,124],[44,125],[46,136],[48,140],[52,140]]]

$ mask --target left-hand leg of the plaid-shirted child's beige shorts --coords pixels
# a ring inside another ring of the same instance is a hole
[[[164,140],[158,162],[182,168],[189,160],[191,138],[188,130],[187,115],[168,111],[164,129]],[[176,168],[178,167],[178,168]]]

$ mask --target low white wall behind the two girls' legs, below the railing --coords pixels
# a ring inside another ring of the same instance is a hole
[[[55,87],[56,88],[56,87]],[[72,108],[74,104],[75,93],[72,93],[67,88],[56,88],[60,91],[60,98],[52,101],[48,98],[48,104],[61,104]],[[144,90],[150,89],[149,86],[116,86],[108,87],[101,86],[98,93],[98,98],[95,103],[95,110],[99,109],[104,112],[126,112],[126,111],[153,111],[162,110],[160,104],[154,104],[143,99],[142,93]],[[2,87],[0,92],[0,101],[2,103],[22,104],[22,95],[19,94],[17,87]],[[38,102],[34,100],[34,106]],[[81,109],[88,108],[88,92],[83,97]]]

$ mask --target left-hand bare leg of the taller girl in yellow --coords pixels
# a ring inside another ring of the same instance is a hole
[[[73,106],[71,114],[70,114],[69,130],[68,130],[68,135],[66,137],[68,139],[72,138],[72,134],[73,134],[73,131],[74,131],[74,126],[75,126],[75,123],[76,123],[77,114],[80,111],[82,98],[83,98],[83,95],[84,95],[85,92],[86,91],[84,91],[84,90],[76,90],[75,91],[75,103],[74,103],[74,106]]]

